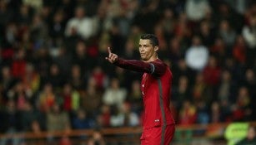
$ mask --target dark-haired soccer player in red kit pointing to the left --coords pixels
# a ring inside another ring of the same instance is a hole
[[[169,108],[172,72],[168,65],[158,59],[158,38],[143,34],[139,40],[142,60],[124,60],[108,47],[108,60],[124,69],[143,72],[141,90],[143,95],[142,145],[169,145],[173,139],[175,122]]]

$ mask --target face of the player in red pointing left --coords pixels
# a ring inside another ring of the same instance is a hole
[[[143,61],[151,60],[154,55],[154,47],[148,39],[140,39],[138,51]]]

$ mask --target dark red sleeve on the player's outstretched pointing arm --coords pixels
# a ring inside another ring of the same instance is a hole
[[[166,70],[166,65],[161,60],[152,62],[143,62],[141,60],[123,60],[119,58],[114,65],[123,69],[133,70],[137,72],[146,72],[154,76],[161,76]]]

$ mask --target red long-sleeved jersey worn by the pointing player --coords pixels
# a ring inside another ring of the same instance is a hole
[[[169,108],[173,75],[162,60],[143,62],[118,59],[114,63],[124,69],[144,72],[141,82],[143,94],[143,129],[173,124]]]

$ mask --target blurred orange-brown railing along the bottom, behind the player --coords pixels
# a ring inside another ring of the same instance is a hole
[[[210,123],[210,124],[193,124],[177,125],[173,144],[190,145],[190,144],[227,144],[224,138],[224,131],[229,123]],[[256,122],[249,123],[256,126]],[[98,130],[102,133],[103,139],[107,144],[139,144],[139,137],[142,129],[140,127],[122,127],[122,128],[102,128]],[[82,130],[65,130],[54,132],[39,133],[1,133],[1,141],[18,139],[26,145],[30,144],[57,144],[62,138],[68,138],[73,144],[83,144],[91,138],[94,129]]]

